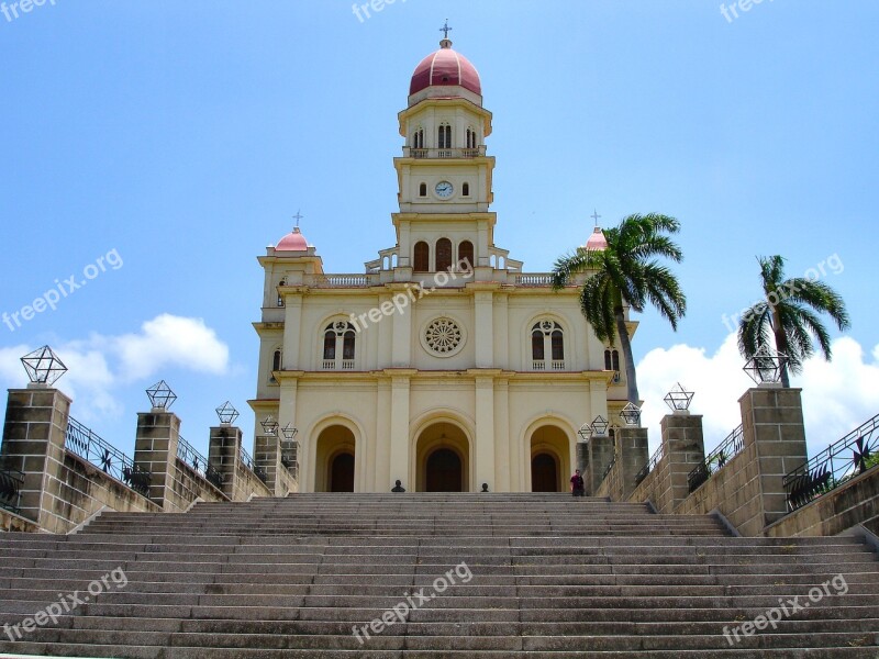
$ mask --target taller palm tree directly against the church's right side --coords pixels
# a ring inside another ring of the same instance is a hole
[[[687,298],[675,275],[655,257],[680,263],[683,255],[667,235],[680,231],[675,217],[649,213],[628,215],[619,226],[604,232],[603,249],[577,249],[560,257],[553,267],[553,288],[567,286],[577,272],[590,272],[580,289],[580,310],[599,340],[615,344],[620,337],[625,360],[628,402],[637,405],[638,384],[632,342],[625,325],[625,305],[644,311],[649,302],[671,327],[687,312]]]

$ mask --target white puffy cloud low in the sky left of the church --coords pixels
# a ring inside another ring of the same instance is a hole
[[[27,377],[20,358],[36,347],[0,348],[0,382],[23,387]],[[153,384],[153,377],[171,368],[224,373],[229,366],[229,347],[204,321],[169,314],[145,322],[137,334],[92,334],[52,349],[69,369],[59,386],[76,401],[76,416],[84,423],[119,417],[120,390],[132,382]]]

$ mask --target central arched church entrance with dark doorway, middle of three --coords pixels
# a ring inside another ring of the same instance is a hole
[[[419,435],[415,490],[419,492],[469,492],[470,443],[457,425],[434,423]]]

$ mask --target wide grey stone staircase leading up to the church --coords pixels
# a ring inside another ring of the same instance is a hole
[[[107,513],[73,536],[0,534],[0,652],[877,659],[876,558],[853,538],[736,538],[713,517],[566,494]],[[59,599],[69,612],[25,630]],[[774,607],[776,629],[736,641]]]

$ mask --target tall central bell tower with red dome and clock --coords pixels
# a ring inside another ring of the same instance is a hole
[[[447,263],[432,252],[425,263],[423,254],[415,255],[418,243],[433,246],[445,237],[453,260],[467,257],[472,266],[488,266],[493,245],[494,158],[486,154],[485,142],[491,112],[482,108],[479,72],[452,48],[450,29],[444,30],[439,49],[415,67],[408,107],[398,115],[405,142],[402,157],[393,159],[400,206],[393,224],[400,265],[415,271],[443,270]]]

